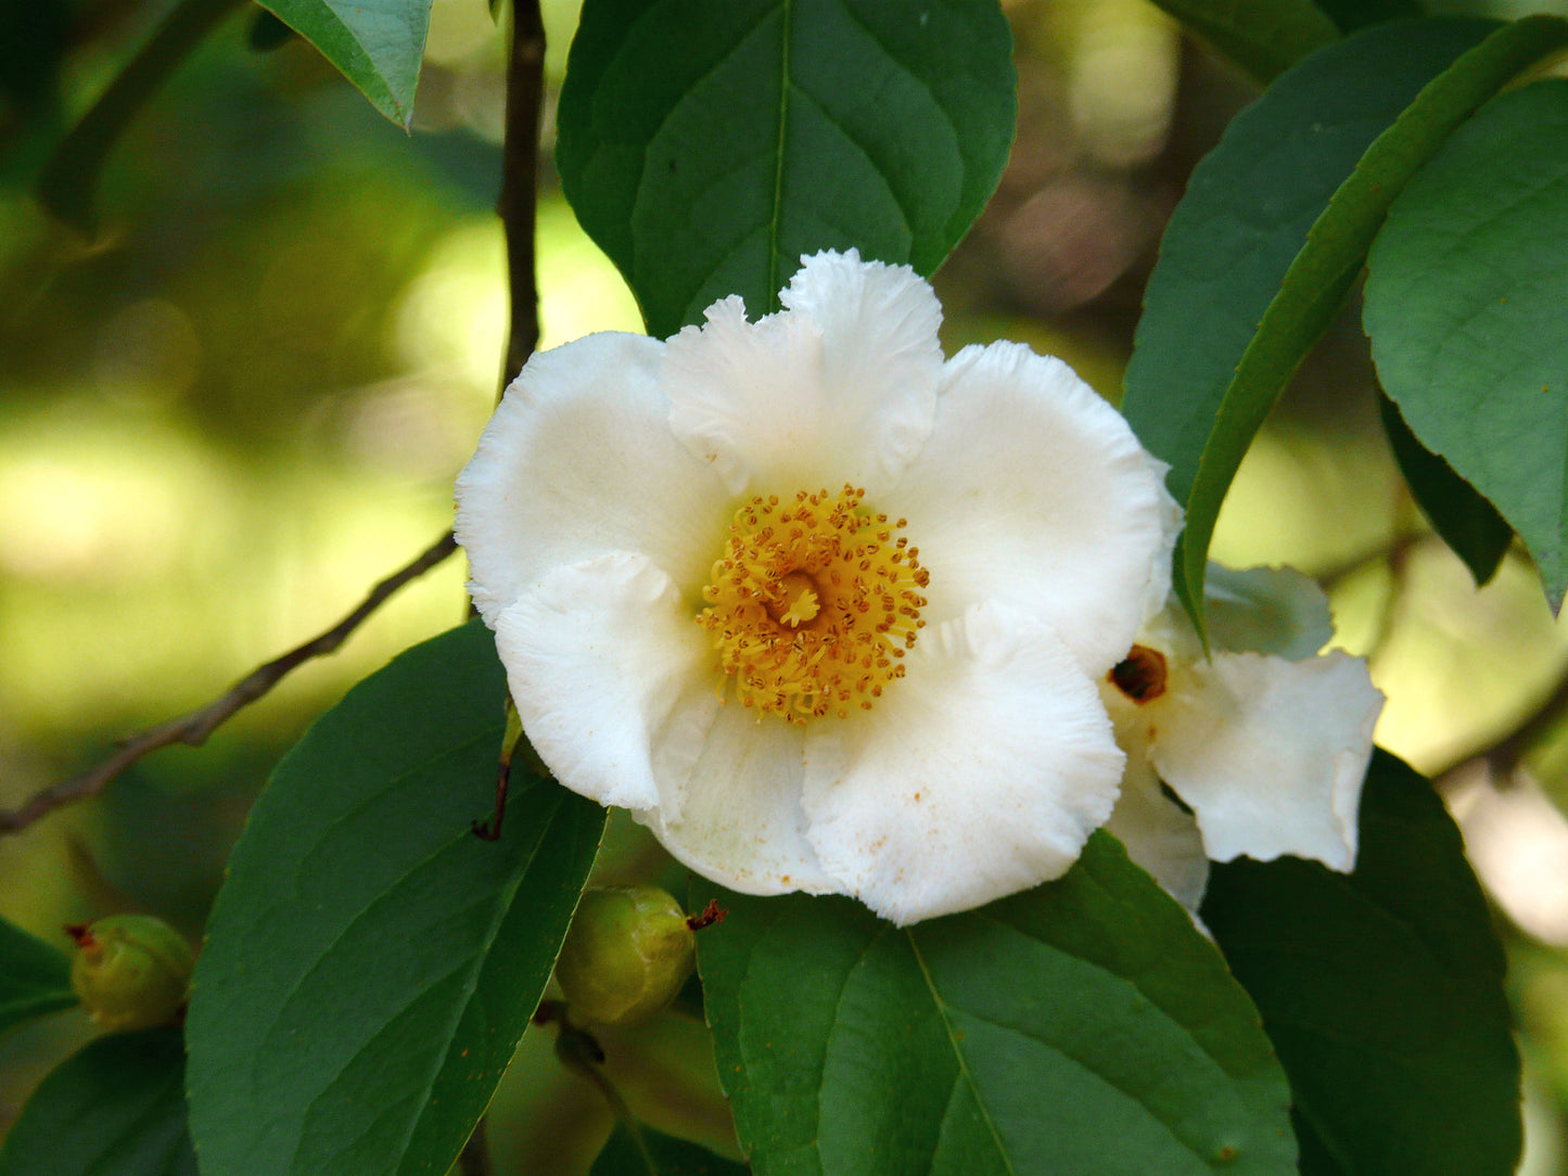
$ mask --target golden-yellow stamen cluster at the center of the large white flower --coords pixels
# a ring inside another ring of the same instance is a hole
[[[696,619],[745,706],[801,724],[844,718],[903,677],[898,659],[925,624],[931,577],[897,535],[908,524],[862,513],[864,497],[853,486],[800,491],[735,511]]]

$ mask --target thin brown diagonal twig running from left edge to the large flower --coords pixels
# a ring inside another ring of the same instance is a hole
[[[276,657],[263,666],[257,666],[207,706],[143,731],[140,735],[122,743],[113,756],[83,771],[80,776],[72,776],[61,784],[44,789],[19,809],[11,809],[9,812],[0,811],[0,834],[25,829],[61,804],[99,795],[119,773],[158,748],[166,748],[171,743],[188,743],[190,746],[205,743],[207,737],[237,710],[254,702],[278,685],[295,666],[336,652],[348,640],[348,635],[364,624],[365,618],[379,608],[392,593],[409,580],[428,572],[456,549],[456,539],[452,538],[452,532],[447,532],[412,563],[372,588],[370,594],[365,596],[354,612],[325,633],[290,649],[282,657]]]

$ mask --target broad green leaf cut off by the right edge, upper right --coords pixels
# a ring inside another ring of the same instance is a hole
[[[1389,210],[1364,321],[1388,395],[1568,591],[1568,82],[1483,107]]]

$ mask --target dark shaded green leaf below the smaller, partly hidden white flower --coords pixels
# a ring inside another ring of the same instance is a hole
[[[1378,751],[1355,873],[1290,858],[1215,866],[1203,919],[1290,1076],[1305,1173],[1513,1171],[1519,1057],[1502,949],[1425,779]]]

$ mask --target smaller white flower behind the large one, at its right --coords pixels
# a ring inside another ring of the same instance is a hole
[[[1107,828],[1189,911],[1209,861],[1355,866],[1383,707],[1366,662],[1317,652],[1333,624],[1305,575],[1210,564],[1206,597],[1210,657],[1173,601],[1101,688],[1127,753]]]

